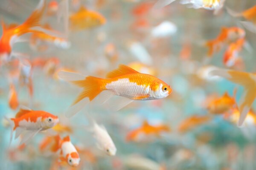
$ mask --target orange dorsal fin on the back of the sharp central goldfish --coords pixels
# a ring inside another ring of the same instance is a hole
[[[139,73],[139,72],[135,71],[134,69],[126,65],[119,65],[119,68],[107,74],[107,78],[114,78],[114,77],[119,77],[125,74],[134,74],[134,73]]]

